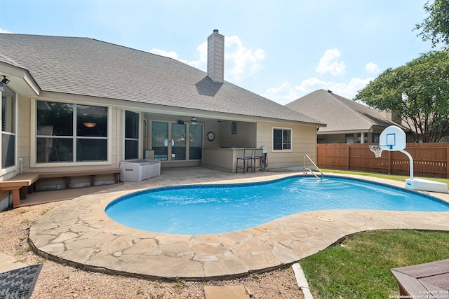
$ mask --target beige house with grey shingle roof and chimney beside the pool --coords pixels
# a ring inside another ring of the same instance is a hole
[[[229,172],[243,148],[267,147],[272,170],[300,167],[305,154],[314,159],[316,128],[325,124],[225,81],[224,36],[217,30],[208,48],[205,73],[95,39],[0,34],[0,79],[6,79],[0,181],[112,169],[147,153],[162,168]],[[1,191],[0,208],[10,193]]]

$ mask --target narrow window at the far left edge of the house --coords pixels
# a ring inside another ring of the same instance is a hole
[[[15,92],[1,93],[1,168],[15,165]]]

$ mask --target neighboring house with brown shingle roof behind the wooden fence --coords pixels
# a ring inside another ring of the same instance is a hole
[[[317,142],[321,144],[379,143],[380,133],[390,125],[410,132],[391,120],[387,113],[335,95],[330,90],[315,90],[286,106],[327,124],[316,133]],[[413,142],[411,136],[408,141]]]

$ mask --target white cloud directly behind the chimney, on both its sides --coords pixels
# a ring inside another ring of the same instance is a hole
[[[152,49],[149,52],[171,57],[197,69],[207,71],[208,43],[206,41],[196,47],[196,52],[199,53],[198,60],[182,60],[174,51]],[[252,76],[263,69],[262,60],[264,58],[264,50],[251,50],[244,47],[239,36],[225,36],[225,80],[240,81],[242,78]]]

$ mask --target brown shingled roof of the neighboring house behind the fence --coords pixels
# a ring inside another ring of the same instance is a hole
[[[398,125],[387,118],[387,113],[372,109],[327,90],[315,90],[286,104],[290,109],[320,120],[327,127],[319,132],[367,132],[373,126]],[[401,126],[400,126],[401,127]],[[402,127],[406,129],[405,127]]]

